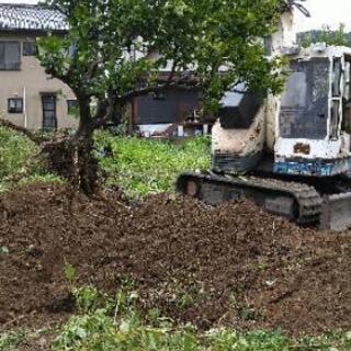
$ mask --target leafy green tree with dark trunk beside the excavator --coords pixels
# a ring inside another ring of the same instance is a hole
[[[242,81],[248,90],[279,91],[280,59],[264,57],[261,38],[274,32],[280,12],[293,2],[47,0],[66,15],[69,32],[42,38],[39,59],[48,75],[72,89],[80,115],[72,137],[46,144],[52,163],[56,169],[64,163],[57,170],[92,193],[93,132],[118,123],[133,98],[197,89],[215,109],[224,92]]]

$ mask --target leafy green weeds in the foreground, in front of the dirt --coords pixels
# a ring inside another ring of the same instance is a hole
[[[351,348],[351,335],[330,332],[320,337],[290,338],[281,331],[237,332],[227,328],[200,332],[192,325],[176,325],[157,308],[138,310],[138,293],[122,287],[115,296],[97,288],[75,288],[78,315],[54,339],[53,351],[337,351]]]

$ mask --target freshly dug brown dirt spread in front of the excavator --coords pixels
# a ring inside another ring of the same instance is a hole
[[[204,329],[351,324],[351,235],[301,229],[249,202],[163,194],[131,207],[118,193],[35,184],[1,194],[0,219],[2,328],[71,312],[65,261],[110,292],[132,279],[143,307]]]

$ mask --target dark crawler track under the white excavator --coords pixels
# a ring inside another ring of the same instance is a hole
[[[315,188],[305,183],[203,172],[181,174],[177,189],[210,205],[244,197],[302,226],[320,224],[324,200]]]

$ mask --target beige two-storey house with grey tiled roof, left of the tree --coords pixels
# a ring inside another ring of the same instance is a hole
[[[42,5],[0,3],[0,115],[30,129],[71,128],[78,124],[71,90],[41,67],[35,39],[65,33],[59,12]]]

